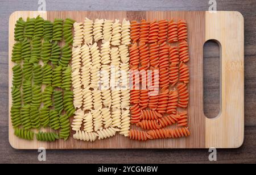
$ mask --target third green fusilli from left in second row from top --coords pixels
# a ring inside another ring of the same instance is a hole
[[[41,53],[41,38],[39,37],[33,37],[32,38],[32,49],[31,49],[31,57],[30,57],[30,62],[31,63],[38,63],[40,59],[40,53]]]

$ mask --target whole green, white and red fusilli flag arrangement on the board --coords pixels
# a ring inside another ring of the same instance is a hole
[[[51,22],[38,16],[20,18],[14,38],[10,112],[19,138],[190,135],[185,20]]]

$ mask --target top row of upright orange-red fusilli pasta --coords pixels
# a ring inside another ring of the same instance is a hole
[[[131,22],[131,39],[133,43],[175,43],[177,41],[187,40],[187,22],[185,20],[159,20],[148,22],[142,20]]]

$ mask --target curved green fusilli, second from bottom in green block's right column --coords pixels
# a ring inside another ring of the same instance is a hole
[[[72,116],[76,111],[73,105],[73,91],[71,90],[64,91],[63,104],[64,104],[64,110],[66,111],[67,115],[69,117]]]

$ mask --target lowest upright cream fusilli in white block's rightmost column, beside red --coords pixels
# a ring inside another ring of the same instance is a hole
[[[121,115],[121,128],[119,134],[124,135],[125,137],[129,136],[130,131],[130,111],[129,110],[122,110]]]

